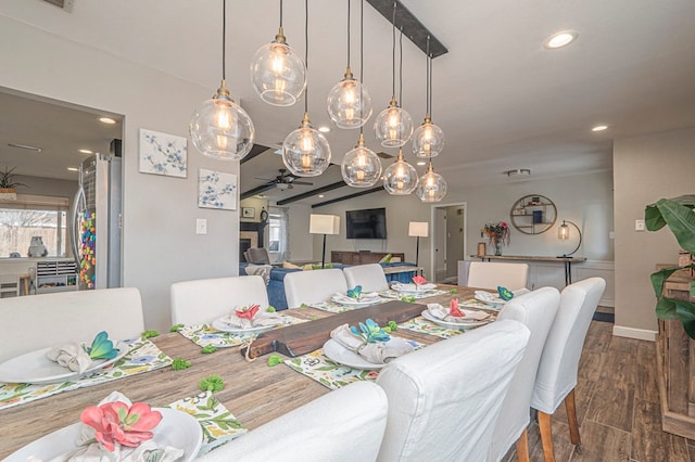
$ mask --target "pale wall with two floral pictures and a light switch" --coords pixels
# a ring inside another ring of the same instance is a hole
[[[148,329],[170,324],[173,282],[237,274],[239,213],[198,208],[197,195],[199,168],[238,174],[239,163],[189,143],[187,178],[138,172],[138,130],[186,137],[218,81],[202,88],[3,15],[0,43],[0,86],[125,116],[123,284],[140,288]],[[207,234],[195,234],[195,218],[207,219]]]

